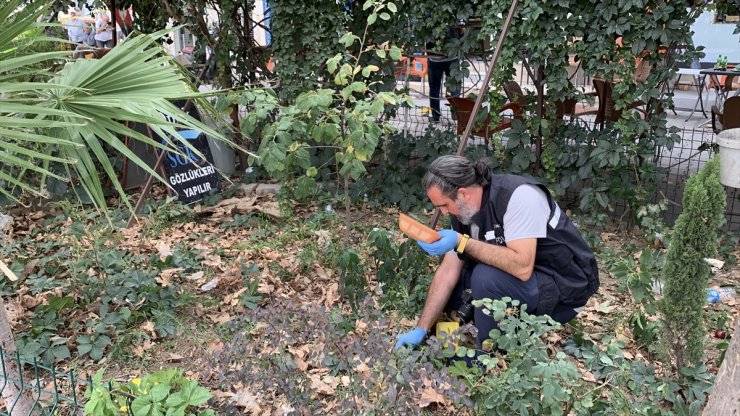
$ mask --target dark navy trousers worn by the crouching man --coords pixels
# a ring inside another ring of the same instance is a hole
[[[449,302],[447,310],[457,310],[462,304],[462,292],[465,289],[471,289],[473,299],[500,299],[508,296],[512,299],[519,300],[522,304],[527,305],[527,313],[537,315],[537,305],[539,303],[539,284],[537,275],[541,273],[535,271],[532,277],[526,282],[487,264],[477,264],[474,268],[463,269],[457,286],[455,287]],[[560,323],[566,323],[576,317],[576,312],[572,306],[557,305],[555,310],[550,313],[550,317]],[[492,329],[498,327],[492,316],[483,313],[481,308],[475,308],[474,312],[475,327],[478,329],[478,348],[483,345],[483,341],[489,339],[489,333]]]

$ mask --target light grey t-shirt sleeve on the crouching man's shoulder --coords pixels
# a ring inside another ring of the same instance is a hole
[[[520,185],[511,194],[504,214],[506,242],[547,237],[550,206],[545,191],[536,185]]]

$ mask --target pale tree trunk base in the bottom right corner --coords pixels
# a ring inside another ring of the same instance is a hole
[[[740,415],[740,319],[735,320],[735,334],[725,353],[725,360],[714,379],[703,415]]]

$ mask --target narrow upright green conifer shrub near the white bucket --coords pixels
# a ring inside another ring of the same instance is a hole
[[[703,312],[710,274],[704,258],[717,251],[717,230],[726,200],[719,182],[719,159],[714,157],[686,182],[683,212],[676,219],[663,268],[661,345],[666,362],[676,370],[702,358],[706,336]]]

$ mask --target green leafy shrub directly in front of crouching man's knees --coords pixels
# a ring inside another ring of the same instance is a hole
[[[493,345],[505,351],[501,354],[481,354],[460,347],[457,355],[474,358],[482,368],[470,368],[466,361],[457,361],[450,374],[463,377],[471,388],[475,410],[492,415],[563,415],[570,409],[586,412],[591,407],[589,395],[581,398],[581,376],[564,352],[550,356],[542,335],[560,324],[549,316],[535,316],[522,306],[519,312],[511,307],[519,301],[511,298],[474,301],[499,323],[491,330]],[[484,371],[485,370],[485,371]]]

